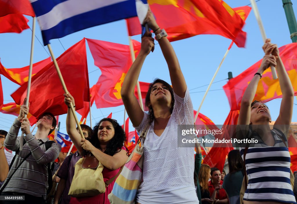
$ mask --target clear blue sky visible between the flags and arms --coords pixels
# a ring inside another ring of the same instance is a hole
[[[239,7],[250,4],[249,0],[226,0],[225,2],[231,7]],[[282,7],[282,1],[260,0],[257,2],[257,5],[266,35],[271,38],[272,43],[276,43],[279,47],[291,43],[292,41],[290,39],[290,32],[285,12]],[[293,8],[295,14],[297,14],[297,4],[294,4],[294,2]],[[32,27],[32,18],[29,16],[27,16],[27,18],[29,19],[29,26]],[[200,111],[218,125],[224,123],[230,110],[228,99],[225,92],[222,90],[222,86],[227,82],[227,73],[231,71],[233,72],[233,77],[235,77],[260,60],[264,55],[261,48],[263,41],[253,11],[251,11],[249,17],[247,18],[246,25],[243,30],[247,32],[246,47],[237,48],[236,45],[233,45],[227,58],[225,59],[225,62],[219,70],[216,79],[214,80],[214,82],[219,82],[214,83],[211,86],[211,91],[206,96],[206,100],[204,101]],[[42,42],[41,32],[38,25],[36,28],[36,36]],[[55,56],[59,57],[64,52],[64,48],[69,48],[83,37],[126,45],[129,43],[126,23],[124,20],[121,20],[70,34],[61,38],[61,43],[57,39],[51,40],[50,43]],[[140,41],[140,36],[134,36],[132,39]],[[211,78],[222,60],[230,42],[231,40],[219,35],[197,35],[172,43],[186,79],[187,86],[190,90],[194,109],[198,109],[203,98],[204,91],[207,89],[207,86],[201,86],[207,85],[211,81]],[[4,67],[21,68],[29,65],[31,46],[30,29],[23,31],[20,34],[0,34],[0,45],[0,58]],[[35,38],[33,62],[35,63],[49,57],[47,52],[47,47],[43,47],[43,45],[41,45]],[[87,60],[89,73],[91,72],[91,74],[89,74],[91,87],[97,82],[101,72],[99,68],[94,65],[94,60],[88,47]],[[156,45],[154,53],[151,53],[147,57],[141,70],[139,81],[151,82],[154,78],[161,78],[170,83],[168,68],[159,45]],[[6,79],[4,76],[1,76],[1,80],[3,86],[4,104],[13,102],[10,95],[17,90],[19,86]],[[57,89],[59,88],[62,89],[57,86]],[[280,102],[280,99],[275,99],[267,103],[271,110],[272,120],[276,120],[279,114]],[[297,101],[295,97],[292,122],[297,122],[296,104]],[[98,122],[103,117],[108,116],[110,112],[113,112],[113,118],[118,120],[120,124],[123,124],[124,122],[124,106],[97,109],[96,106],[93,105],[91,112],[93,126],[94,123]],[[80,116],[78,117],[80,118]],[[8,131],[14,118],[14,115],[0,113],[0,129]],[[59,121],[61,122],[60,131],[63,133],[66,133],[65,119],[66,115],[62,115],[59,118]],[[86,124],[90,124],[89,118],[87,119]],[[133,128],[131,123],[129,127],[129,131],[132,131]]]

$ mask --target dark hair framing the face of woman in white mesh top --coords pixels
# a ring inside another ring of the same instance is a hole
[[[151,107],[151,105],[149,105],[149,103],[151,102],[150,95],[151,95],[151,89],[153,88],[154,84],[156,84],[156,83],[164,84],[168,88],[168,90],[171,94],[171,107],[170,107],[171,113],[173,111],[173,106],[174,106],[174,102],[175,102],[173,88],[166,81],[164,81],[162,79],[158,79],[158,78],[154,79],[154,81],[149,84],[149,89],[148,89],[148,92],[146,93],[146,103],[145,103],[146,108],[149,110],[148,115],[149,115],[149,124],[150,125],[155,119],[153,108]]]

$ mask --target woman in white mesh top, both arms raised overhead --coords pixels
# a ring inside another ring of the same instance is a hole
[[[185,125],[194,123],[189,90],[176,54],[166,36],[158,36],[164,31],[159,28],[150,11],[144,23],[156,34],[168,64],[173,89],[160,79],[151,83],[146,95],[148,113],[141,110],[134,96],[134,87],[143,62],[154,48],[154,39],[147,32],[142,37],[140,53],[121,88],[122,100],[133,126],[141,131],[147,123],[150,124],[143,145],[143,182],[138,189],[136,203],[197,204],[199,202],[193,181],[193,149],[177,145],[178,126],[185,129]]]

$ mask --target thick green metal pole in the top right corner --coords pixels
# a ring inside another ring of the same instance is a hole
[[[297,42],[297,23],[296,17],[294,14],[293,6],[291,0],[282,0],[282,6],[284,7],[289,30],[290,30],[290,38],[293,43]]]

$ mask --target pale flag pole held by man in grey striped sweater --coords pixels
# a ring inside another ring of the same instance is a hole
[[[26,101],[25,101],[25,105],[26,106],[29,106],[29,96],[30,96],[30,89],[31,89],[31,76],[32,76],[34,40],[35,40],[35,24],[36,24],[36,17],[33,17],[32,38],[31,38],[31,54],[30,54],[30,67],[29,67],[29,76],[28,76],[27,96],[26,96]],[[27,115],[25,115],[25,117],[27,117]],[[23,150],[24,134],[25,134],[24,131],[22,131],[22,136],[20,138],[20,151]]]

